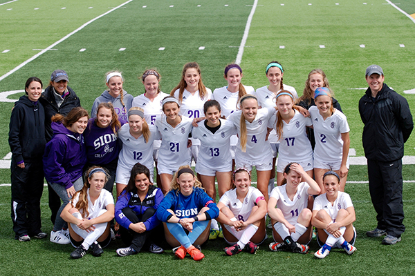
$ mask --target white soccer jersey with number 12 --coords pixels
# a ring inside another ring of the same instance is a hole
[[[155,126],[149,126],[151,135],[149,141],[145,141],[141,135],[138,139],[134,138],[129,132],[129,124],[124,124],[118,132],[118,138],[122,141],[122,149],[118,157],[118,167],[130,171],[131,168],[140,162],[146,166],[150,172],[154,170],[153,161],[153,143],[154,140],[160,139],[160,135]]]

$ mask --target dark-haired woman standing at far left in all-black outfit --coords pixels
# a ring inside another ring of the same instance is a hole
[[[12,221],[15,239],[43,239],[40,221],[40,198],[44,188],[42,156],[46,144],[45,113],[38,99],[42,81],[30,77],[26,95],[15,103],[10,117],[9,145],[12,150]]]

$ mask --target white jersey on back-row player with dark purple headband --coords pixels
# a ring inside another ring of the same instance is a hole
[[[243,86],[246,90],[246,94],[254,94],[255,90],[252,86]],[[221,105],[222,115],[228,118],[235,110],[240,108],[238,105],[239,92],[230,92],[228,86],[216,88],[213,91],[212,99],[215,99]]]

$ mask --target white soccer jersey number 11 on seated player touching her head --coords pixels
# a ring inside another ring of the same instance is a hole
[[[307,182],[302,182],[297,186],[293,200],[288,197],[286,185],[273,188],[270,197],[277,199],[277,208],[282,211],[284,218],[292,225],[297,222],[298,215],[308,204],[308,188]]]

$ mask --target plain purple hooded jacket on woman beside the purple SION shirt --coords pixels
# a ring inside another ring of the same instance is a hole
[[[84,137],[62,123],[52,122],[52,129],[54,135],[46,144],[43,157],[45,178],[50,183],[71,188],[82,177],[86,164]]]

